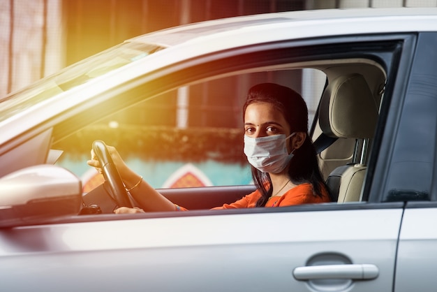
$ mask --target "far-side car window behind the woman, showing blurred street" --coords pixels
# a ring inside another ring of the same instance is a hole
[[[276,82],[296,89],[311,126],[326,76],[313,68],[261,71],[179,87],[90,124],[62,140],[57,164],[82,178],[84,191],[103,182],[87,166],[93,140],[119,149],[155,188],[252,184],[243,153],[242,105],[249,87]],[[80,136],[80,140],[77,140]],[[80,143],[80,145],[77,145]]]

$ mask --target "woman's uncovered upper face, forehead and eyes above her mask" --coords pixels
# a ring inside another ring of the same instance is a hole
[[[283,113],[272,103],[252,103],[244,113],[244,134],[252,138],[284,134],[290,135],[290,126]]]

